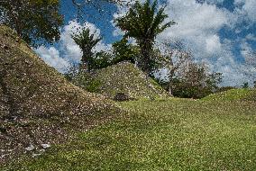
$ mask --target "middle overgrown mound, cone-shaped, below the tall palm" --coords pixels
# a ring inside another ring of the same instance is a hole
[[[129,62],[121,62],[100,69],[96,72],[95,77],[100,83],[97,93],[112,99],[120,93],[127,94],[132,99],[168,95],[160,85],[150,77],[147,78],[139,68]]]

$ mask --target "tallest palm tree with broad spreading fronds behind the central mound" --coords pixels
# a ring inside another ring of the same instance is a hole
[[[138,61],[139,67],[147,73],[151,74],[151,51],[156,36],[164,31],[173,21],[164,23],[168,18],[164,14],[165,7],[157,10],[157,0],[152,4],[147,0],[144,4],[136,2],[127,14],[115,19],[116,26],[125,31],[124,37],[132,37],[138,43],[141,50],[141,58]]]

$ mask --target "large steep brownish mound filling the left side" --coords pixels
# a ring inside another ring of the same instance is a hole
[[[0,161],[64,140],[69,130],[118,111],[103,96],[70,84],[0,25]]]

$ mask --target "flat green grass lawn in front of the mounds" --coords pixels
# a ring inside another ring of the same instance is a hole
[[[254,102],[172,98],[119,103],[126,114],[78,133],[27,170],[255,170]]]

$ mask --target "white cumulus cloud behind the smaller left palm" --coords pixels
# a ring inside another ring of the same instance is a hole
[[[71,38],[73,33],[77,33],[82,28],[89,28],[95,32],[95,36],[100,35],[100,30],[93,23],[80,24],[70,21],[68,25],[62,28],[58,49],[55,47],[46,48],[44,46],[35,49],[39,56],[51,67],[55,67],[59,72],[67,71],[67,68],[73,63],[79,63],[82,57],[81,49]],[[110,49],[111,45],[105,44],[102,40],[96,45],[93,51]],[[60,54],[60,55],[59,55]]]

